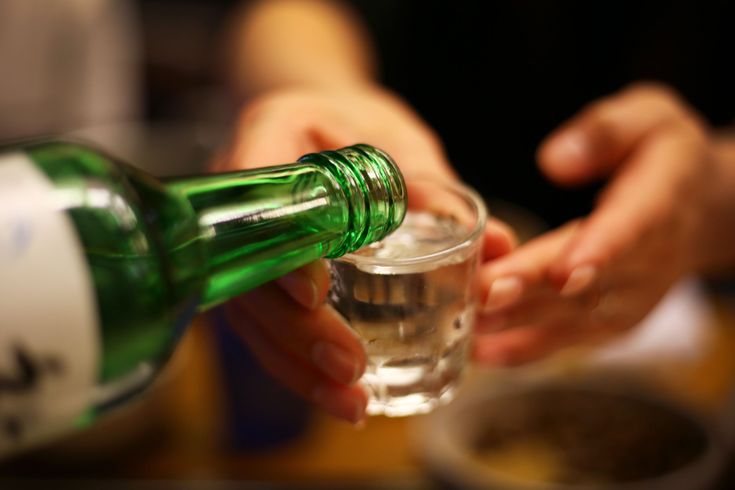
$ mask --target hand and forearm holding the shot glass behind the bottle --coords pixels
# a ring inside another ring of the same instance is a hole
[[[408,178],[457,179],[439,138],[405,102],[374,81],[359,24],[337,3],[256,3],[233,19],[228,78],[244,108],[213,170],[294,161],[306,153],[373,144]],[[484,257],[507,253],[513,233],[490,220]],[[367,395],[365,352],[325,304],[329,274],[312,263],[226,305],[233,328],[273,377],[332,415],[358,423]]]

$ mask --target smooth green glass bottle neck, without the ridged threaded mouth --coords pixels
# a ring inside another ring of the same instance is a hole
[[[318,165],[290,164],[167,183],[194,210],[206,257],[200,309],[343,248],[345,193]]]

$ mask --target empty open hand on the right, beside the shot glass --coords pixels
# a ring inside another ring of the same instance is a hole
[[[538,153],[550,178],[611,179],[591,215],[484,270],[492,286],[476,357],[517,364],[609,337],[683,275],[735,262],[731,141],[650,84],[591,104],[552,134]]]

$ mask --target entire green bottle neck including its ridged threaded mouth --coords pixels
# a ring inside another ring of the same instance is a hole
[[[322,257],[380,240],[405,215],[393,161],[356,145],[298,163],[169,182],[187,199],[207,262],[201,309]]]

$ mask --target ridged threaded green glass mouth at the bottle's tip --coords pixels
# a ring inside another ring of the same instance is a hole
[[[384,151],[357,144],[304,155],[300,162],[328,167],[339,180],[349,203],[351,230],[329,258],[354,252],[394,231],[406,215],[406,183]]]

